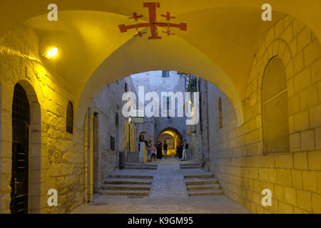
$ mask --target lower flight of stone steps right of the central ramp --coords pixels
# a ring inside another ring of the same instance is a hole
[[[213,174],[185,175],[184,180],[189,196],[223,195],[223,190]]]

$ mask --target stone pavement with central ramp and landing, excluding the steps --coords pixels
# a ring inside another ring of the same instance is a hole
[[[181,170],[178,160],[158,160],[157,170],[118,170],[113,175],[153,175],[148,197],[95,195],[92,204],[73,210],[79,214],[157,214],[157,213],[250,213],[225,195],[189,197],[184,175],[207,174],[201,170]]]

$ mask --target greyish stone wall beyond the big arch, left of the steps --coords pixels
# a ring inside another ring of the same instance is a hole
[[[118,151],[128,152],[129,142],[131,151],[138,150],[136,124],[131,123],[131,128],[128,128],[128,118],[122,114],[123,105],[126,103],[122,100],[125,83],[128,91],[136,93],[131,77],[126,77],[106,86],[93,99],[93,110],[98,112],[98,164],[96,165],[99,167],[99,186],[103,179],[118,167]],[[118,127],[116,115],[118,115]],[[128,130],[131,131],[129,134]],[[116,150],[111,150],[111,136],[115,138],[115,143],[118,142]]]

